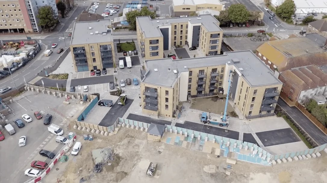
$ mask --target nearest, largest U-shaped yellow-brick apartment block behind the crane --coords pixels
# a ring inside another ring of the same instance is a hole
[[[145,68],[142,111],[164,117],[174,117],[178,103],[188,97],[226,95],[229,79],[230,99],[246,118],[272,116],[283,85],[250,50],[203,58],[147,60]]]

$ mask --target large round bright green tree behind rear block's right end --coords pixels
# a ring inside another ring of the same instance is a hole
[[[228,18],[233,23],[241,23],[249,20],[250,12],[242,4],[233,4],[228,8]]]

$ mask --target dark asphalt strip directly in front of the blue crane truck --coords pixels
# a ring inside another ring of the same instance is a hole
[[[207,134],[212,134],[212,135],[217,135],[221,137],[227,137],[227,138],[232,138],[235,140],[238,140],[239,132],[228,130],[228,132],[225,132],[225,129],[223,128],[218,128],[214,127],[212,125],[209,125],[210,128],[207,128],[207,124],[200,124],[200,123],[195,123],[191,121],[184,121],[184,124],[181,123],[176,123],[175,126],[181,127],[181,128],[186,128],[198,132],[203,132]]]

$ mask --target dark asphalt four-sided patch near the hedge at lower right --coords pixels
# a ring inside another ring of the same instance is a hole
[[[255,134],[265,147],[301,141],[291,128],[257,132]]]

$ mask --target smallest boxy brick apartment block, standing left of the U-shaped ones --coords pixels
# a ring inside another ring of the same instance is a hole
[[[70,41],[75,71],[112,68],[115,49],[109,20],[75,22]]]

